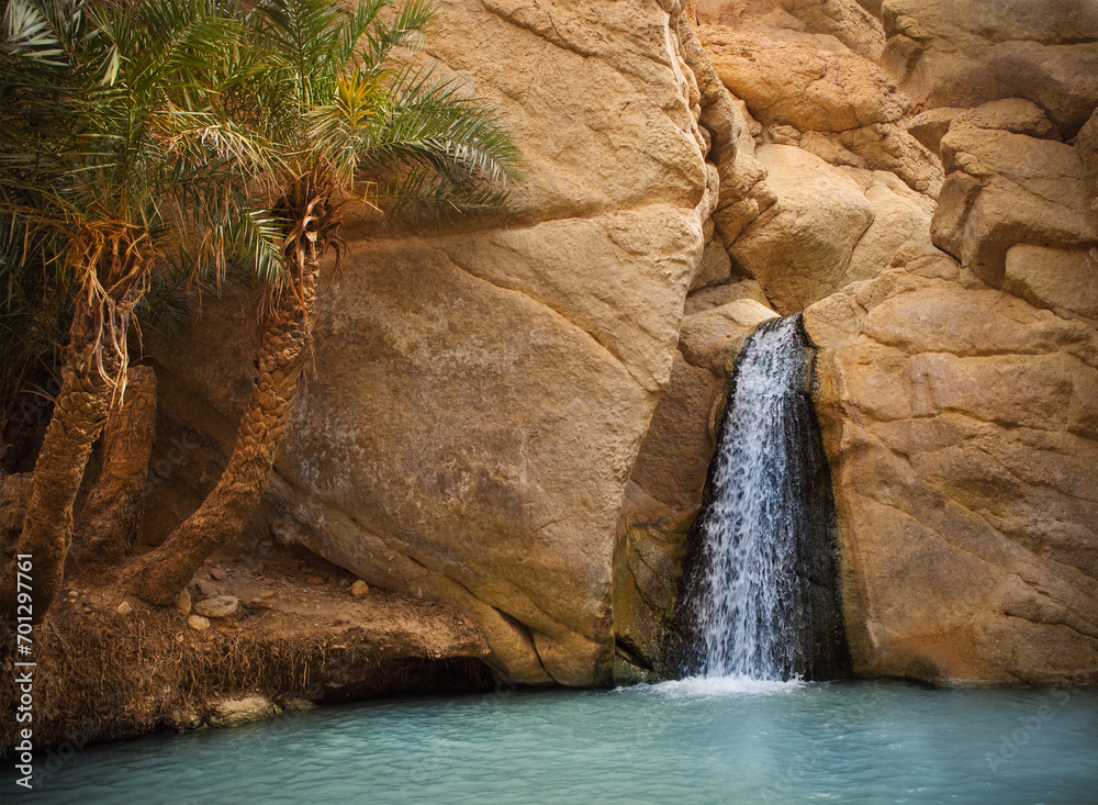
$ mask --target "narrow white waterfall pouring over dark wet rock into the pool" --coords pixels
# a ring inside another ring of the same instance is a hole
[[[800,316],[766,322],[737,361],[680,622],[685,674],[841,675],[830,484]]]

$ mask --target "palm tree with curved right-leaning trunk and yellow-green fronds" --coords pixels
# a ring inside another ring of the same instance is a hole
[[[435,211],[500,208],[518,155],[492,112],[429,71],[393,59],[423,42],[422,0],[347,11],[330,0],[258,0],[246,18],[272,65],[242,109],[248,125],[290,155],[272,175],[271,216],[287,278],[261,305],[258,372],[221,479],[202,505],[135,568],[138,594],[166,604],[232,541],[270,478],[307,362],[321,264],[337,256],[340,205],[356,200]]]

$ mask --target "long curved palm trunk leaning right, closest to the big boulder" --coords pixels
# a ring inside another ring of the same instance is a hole
[[[143,600],[170,603],[202,562],[239,536],[245,519],[259,503],[307,357],[318,277],[320,253],[315,244],[309,244],[300,282],[282,291],[264,323],[258,373],[228,466],[194,514],[133,568],[136,592]]]

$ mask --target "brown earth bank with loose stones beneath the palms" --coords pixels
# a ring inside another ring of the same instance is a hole
[[[0,641],[14,657],[13,631]],[[488,653],[450,607],[369,590],[304,551],[219,557],[167,610],[77,575],[34,633],[34,738],[79,749],[377,695],[491,690]],[[4,664],[0,706],[13,713]],[[18,726],[3,719],[5,757]]]

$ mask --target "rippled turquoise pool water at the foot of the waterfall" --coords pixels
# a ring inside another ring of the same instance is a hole
[[[724,679],[405,700],[92,747],[31,795],[5,763],[2,785],[5,805],[1095,803],[1098,691]]]

